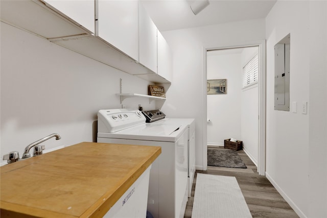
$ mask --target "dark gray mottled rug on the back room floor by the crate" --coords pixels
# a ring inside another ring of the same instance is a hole
[[[208,149],[208,166],[247,168],[235,150]]]

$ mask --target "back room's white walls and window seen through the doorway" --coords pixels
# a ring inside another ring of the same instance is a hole
[[[259,152],[258,54],[259,46],[249,46],[207,51],[206,58],[207,145],[221,147],[224,139],[242,140],[244,152],[256,166]],[[215,84],[216,81],[219,83]]]

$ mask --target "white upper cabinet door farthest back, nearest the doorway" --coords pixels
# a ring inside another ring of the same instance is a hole
[[[157,32],[158,39],[158,75],[172,81],[172,55],[169,45],[161,33]]]

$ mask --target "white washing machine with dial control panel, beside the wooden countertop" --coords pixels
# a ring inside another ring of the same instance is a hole
[[[188,125],[145,121],[138,110],[100,110],[98,142],[160,146],[150,170],[148,211],[159,218],[183,217],[188,201]]]

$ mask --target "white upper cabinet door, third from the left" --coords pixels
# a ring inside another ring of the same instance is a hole
[[[157,72],[157,27],[139,5],[139,63]]]

